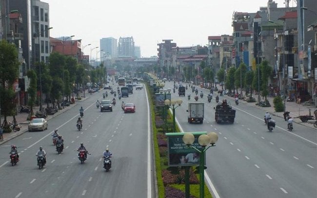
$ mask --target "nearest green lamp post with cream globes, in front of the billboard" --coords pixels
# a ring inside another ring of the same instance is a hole
[[[211,132],[203,135],[200,135],[198,137],[198,143],[201,146],[201,150],[197,149],[194,146],[191,146],[191,144],[194,143],[195,137],[192,133],[185,133],[183,136],[183,142],[187,144],[188,147],[191,147],[195,149],[199,153],[199,180],[200,180],[200,186],[199,186],[199,198],[204,198],[204,187],[205,187],[205,180],[204,180],[204,164],[205,164],[205,158],[204,153],[212,146],[216,146],[215,143],[218,140],[218,135],[215,132]],[[208,144],[211,144],[206,148]]]

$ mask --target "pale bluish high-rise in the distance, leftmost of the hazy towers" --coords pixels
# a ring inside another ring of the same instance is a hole
[[[100,57],[101,59],[114,59],[118,57],[118,42],[112,37],[100,39]],[[107,56],[103,56],[106,54]]]

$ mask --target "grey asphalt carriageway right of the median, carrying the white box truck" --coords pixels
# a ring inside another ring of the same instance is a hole
[[[165,84],[173,88],[172,82]],[[198,91],[200,92],[198,88]],[[287,123],[273,116],[277,127],[268,132],[263,121],[264,110],[243,101],[234,104],[237,110],[234,124],[215,122],[215,94],[207,102],[208,91],[198,102],[205,102],[203,124],[189,124],[186,109],[194,102],[195,94],[186,90],[186,97],[172,93],[172,99],[181,98],[176,118],[184,132],[207,131],[218,133],[216,147],[206,152],[205,171],[220,198],[316,198],[317,197],[317,133],[316,130],[294,123],[294,131],[287,131]],[[220,97],[222,101],[223,97]]]

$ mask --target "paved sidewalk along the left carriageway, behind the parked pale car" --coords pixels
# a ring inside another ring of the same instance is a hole
[[[81,100],[77,100],[75,101],[75,104],[71,104],[69,106],[65,106],[64,109],[61,109],[59,110],[57,113],[55,113],[54,115],[48,115],[46,120],[49,120],[49,119],[52,119],[56,116],[59,116],[60,114],[64,113],[65,111],[68,111],[69,109],[75,107],[77,105],[77,101],[84,101],[86,99],[89,98],[89,96],[86,94],[85,95],[85,98],[83,98],[83,96],[80,96],[81,97]],[[43,108],[45,108],[45,104],[43,105]],[[40,106],[35,106],[33,107],[33,111],[36,112],[36,111],[39,111],[40,110]],[[28,123],[29,121],[27,120],[27,117],[28,117],[28,113],[18,113],[18,115],[16,116],[16,120],[17,122],[20,124],[20,131],[17,131],[17,132],[11,132],[11,133],[3,133],[3,141],[0,141],[0,145],[11,140],[11,139],[14,139],[20,135],[22,135],[23,133],[27,132],[28,131]],[[7,117],[7,121],[12,121],[13,120],[13,117],[12,116],[9,116]],[[1,117],[1,121],[3,122],[3,117]]]

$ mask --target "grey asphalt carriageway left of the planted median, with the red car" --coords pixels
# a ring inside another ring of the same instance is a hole
[[[134,114],[124,114],[118,97],[113,112],[100,112],[95,102],[101,99],[102,93],[89,96],[69,111],[50,119],[48,130],[26,132],[1,145],[0,197],[145,198],[154,195],[145,89],[134,90],[129,98],[121,99],[136,104],[137,112]],[[110,97],[112,95],[109,94]],[[80,106],[85,109],[82,131],[76,129]],[[59,129],[65,141],[60,155],[52,144],[54,129]],[[91,153],[83,164],[80,164],[75,151],[80,142]],[[16,144],[20,152],[20,162],[14,167],[8,161],[11,144]],[[42,170],[39,170],[35,157],[40,146],[47,153],[47,164]],[[101,158],[106,147],[113,153],[109,172],[103,169]]]

